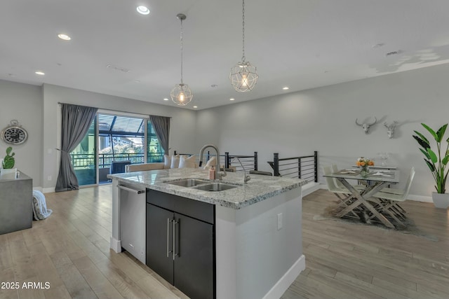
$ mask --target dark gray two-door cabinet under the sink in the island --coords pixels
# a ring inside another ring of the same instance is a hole
[[[215,298],[215,207],[147,190],[147,265],[192,299]]]

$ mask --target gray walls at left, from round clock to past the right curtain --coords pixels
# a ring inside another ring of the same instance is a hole
[[[196,111],[152,104],[122,97],[102,95],[72,88],[44,84],[34,86],[0,81],[0,130],[17,119],[27,130],[25,144],[13,146],[16,167],[33,179],[34,188],[54,190],[59,169],[60,106],[58,102],[95,106],[111,111],[171,117],[170,145],[173,150],[196,152],[194,127]],[[7,144],[0,142],[0,157]],[[50,179],[50,180],[49,180]]]

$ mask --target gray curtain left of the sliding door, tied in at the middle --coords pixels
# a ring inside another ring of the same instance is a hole
[[[77,106],[72,104],[62,105],[62,134],[61,134],[61,161],[56,192],[79,189],[78,179],[72,162],[70,152],[83,140],[91,126],[98,108]]]

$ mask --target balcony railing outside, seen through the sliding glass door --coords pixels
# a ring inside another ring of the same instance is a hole
[[[72,165],[74,169],[95,167],[95,154],[72,153]],[[107,168],[111,166],[112,161],[130,160],[131,164],[143,163],[144,153],[100,153],[98,154],[98,167]],[[163,153],[149,153],[147,162],[163,162]]]

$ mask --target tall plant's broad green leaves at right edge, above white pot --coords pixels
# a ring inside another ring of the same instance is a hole
[[[449,169],[445,169],[449,161],[449,137],[445,140],[447,143],[445,151],[441,151],[441,142],[443,141],[443,136],[448,124],[446,123],[436,132],[424,123],[421,125],[432,135],[432,137],[434,137],[436,141],[436,152],[430,148],[429,140],[427,140],[426,137],[424,137],[424,135],[420,132],[414,131],[417,136],[413,135],[413,138],[415,138],[418,144],[422,146],[420,151],[424,154],[424,161],[426,161],[427,166],[434,176],[436,192],[445,193],[446,179],[448,179],[449,172]]]

